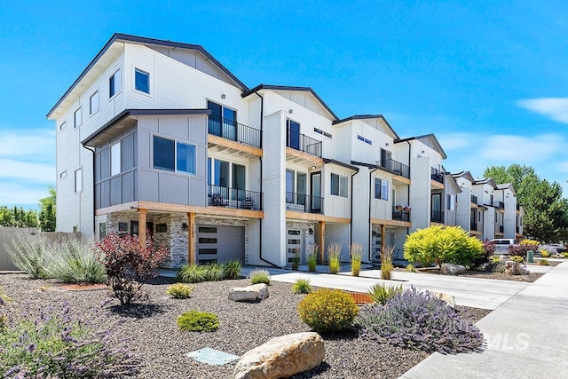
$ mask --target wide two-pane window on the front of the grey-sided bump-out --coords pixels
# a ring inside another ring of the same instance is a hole
[[[154,136],[154,169],[195,175],[195,146]]]

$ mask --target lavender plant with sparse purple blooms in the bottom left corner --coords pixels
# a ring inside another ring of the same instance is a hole
[[[22,314],[30,310],[24,310]],[[110,328],[97,330],[68,304],[40,311],[36,320],[11,312],[0,333],[0,376],[112,378],[136,375],[138,359],[117,342]]]

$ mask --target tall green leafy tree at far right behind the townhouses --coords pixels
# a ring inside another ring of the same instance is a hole
[[[511,164],[491,166],[485,178],[495,183],[512,183],[518,203],[525,209],[524,232],[542,242],[565,241],[568,238],[568,201],[562,197],[562,187],[540,179],[533,167]]]

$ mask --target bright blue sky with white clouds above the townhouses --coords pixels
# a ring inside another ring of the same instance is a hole
[[[201,44],[248,87],[310,86],[339,117],[434,133],[446,170],[527,164],[568,197],[564,1],[117,3],[0,5],[0,205],[55,184],[45,114],[114,32]]]

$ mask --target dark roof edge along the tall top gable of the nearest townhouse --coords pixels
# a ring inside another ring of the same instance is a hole
[[[61,96],[61,99],[59,99],[58,102],[55,104],[55,106],[53,106],[51,108],[51,110],[47,113],[47,115],[46,115],[47,118],[49,118],[51,116],[53,111],[57,107],[59,107],[59,104],[61,104],[61,102],[65,98],[67,98],[67,95],[69,95],[69,93],[71,93],[71,91],[73,91],[75,89],[77,84],[79,84],[83,80],[83,77],[85,75],[87,75],[87,73],[89,73],[91,68],[94,67],[97,64],[97,62],[99,62],[99,59],[101,59],[105,55],[106,51],[108,51],[108,49],[115,42],[139,43],[139,44],[146,44],[146,45],[154,45],[154,46],[162,46],[162,47],[171,47],[171,48],[177,48],[177,49],[199,51],[199,52],[201,52],[201,54],[203,54],[203,56],[205,56],[205,58],[207,58],[219,70],[221,70],[225,75],[229,76],[233,80],[234,85],[236,87],[239,87],[241,89],[241,91],[248,91],[248,87],[244,83],[242,83],[239,80],[239,78],[237,78],[235,75],[233,75],[233,73],[231,73],[231,71],[229,71],[217,59],[215,59],[211,54],[209,54],[208,51],[203,49],[203,47],[201,47],[198,44],[179,43],[179,42],[172,42],[172,41],[166,41],[166,40],[155,39],[155,38],[147,38],[147,37],[142,37],[142,36],[131,36],[131,35],[125,35],[125,34],[122,34],[122,33],[114,33],[114,35],[108,40],[108,42],[105,43],[105,45],[99,51],[99,53],[95,56],[95,58],[93,58],[91,60],[91,63],[89,63],[89,65],[87,67],[85,67],[85,69],[83,70],[81,75],[79,75],[79,77],[75,80],[75,82],[73,84],[71,84],[71,87],[69,87],[69,89],[63,94],[63,96]]]

